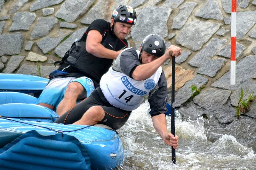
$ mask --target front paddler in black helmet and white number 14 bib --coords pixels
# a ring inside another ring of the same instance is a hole
[[[137,109],[148,96],[154,128],[164,142],[178,147],[178,136],[167,131],[165,112],[167,82],[161,65],[172,56],[181,54],[180,48],[170,46],[156,34],[148,35],[141,50],[128,48],[120,53],[108,72],[100,80],[100,87],[83,102],[66,112],[55,123],[105,124],[121,128],[132,110]],[[166,51],[166,52],[165,52]]]

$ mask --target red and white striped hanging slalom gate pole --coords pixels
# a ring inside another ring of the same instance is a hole
[[[230,85],[236,85],[236,0],[231,6]]]

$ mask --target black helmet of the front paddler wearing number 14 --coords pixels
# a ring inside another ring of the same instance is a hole
[[[164,55],[166,49],[165,41],[162,37],[157,34],[149,34],[145,37],[141,44],[141,50],[154,55],[156,57],[161,57]]]

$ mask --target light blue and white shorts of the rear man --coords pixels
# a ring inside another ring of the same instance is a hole
[[[82,84],[86,93],[79,96],[79,99],[83,99],[85,97],[90,96],[92,91],[95,89],[92,79],[88,77],[56,77],[49,81],[47,86],[44,88],[43,92],[37,99],[36,104],[45,103],[54,106],[56,109],[64,97],[65,91],[68,87],[68,84],[76,81]]]

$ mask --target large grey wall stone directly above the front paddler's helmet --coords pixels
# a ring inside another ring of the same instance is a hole
[[[152,12],[154,11],[162,11],[162,12],[159,12],[159,15],[152,16]],[[172,11],[171,8],[164,8],[164,7],[149,6],[149,7],[143,8],[140,12],[140,18],[143,18],[143,20],[138,20],[136,25],[132,28],[131,36],[133,41],[141,41],[147,35],[152,34],[152,32],[160,35],[163,38],[167,37],[168,36],[167,21],[171,14],[171,11]],[[148,20],[157,21],[157,22],[148,22]]]

